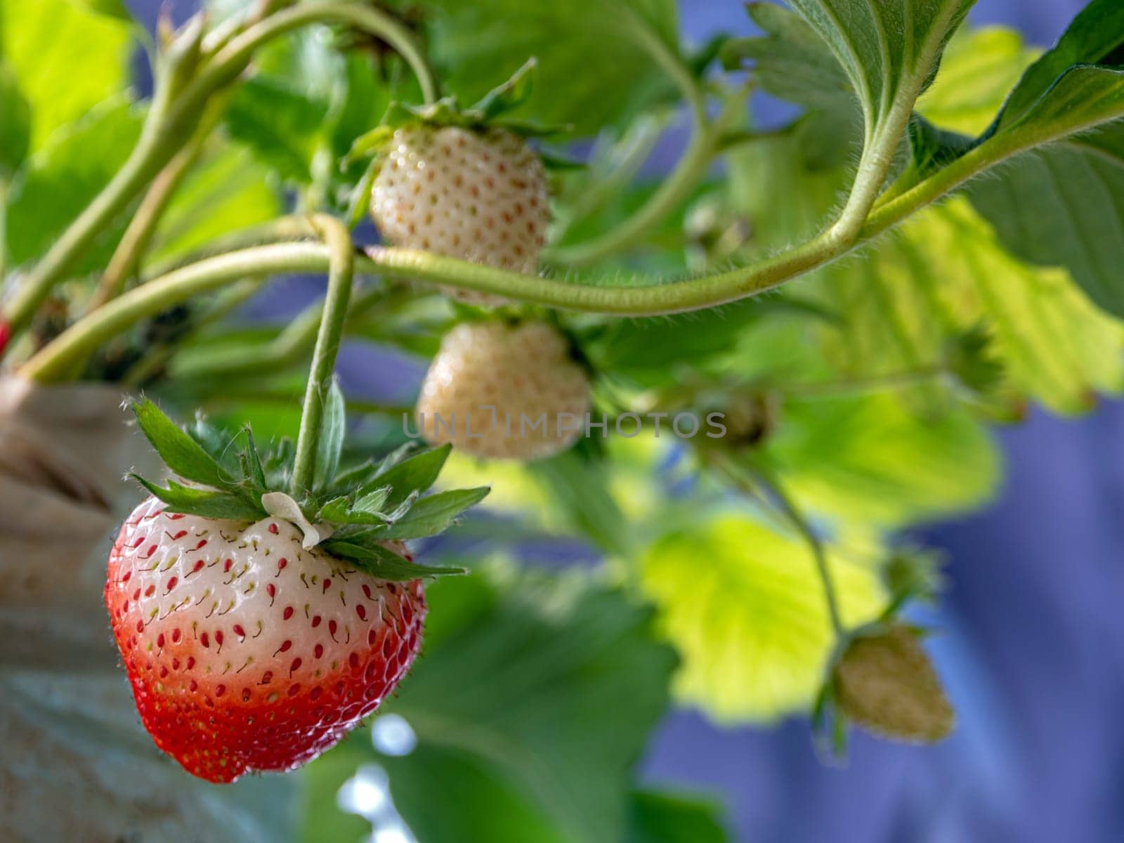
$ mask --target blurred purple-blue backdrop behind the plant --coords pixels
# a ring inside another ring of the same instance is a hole
[[[130,4],[149,19],[158,8]],[[170,3],[178,19],[192,4]],[[973,20],[1045,45],[1084,4],[979,0]],[[736,0],[680,6],[698,40],[746,29]],[[386,395],[387,384],[355,386]],[[720,792],[737,841],[1124,841],[1124,519],[1114,511],[1124,509],[1124,407],[1076,422],[1036,414],[1000,437],[1001,499],[925,536],[951,559],[948,599],[924,618],[942,631],[931,649],[960,711],[950,741],[908,749],[856,735],[847,767],[831,769],[805,719],[731,732],[686,713],[669,718],[646,774]]]

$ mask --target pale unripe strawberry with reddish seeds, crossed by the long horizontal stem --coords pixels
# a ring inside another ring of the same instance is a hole
[[[546,172],[535,151],[506,129],[408,126],[388,145],[371,216],[396,246],[534,273],[550,224]],[[471,303],[504,303],[446,292]]]

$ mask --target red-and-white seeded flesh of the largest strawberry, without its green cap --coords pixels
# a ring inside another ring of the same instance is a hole
[[[426,611],[420,580],[306,551],[288,522],[173,515],[155,498],[121,527],[106,607],[145,728],[212,782],[333,746],[409,671]]]

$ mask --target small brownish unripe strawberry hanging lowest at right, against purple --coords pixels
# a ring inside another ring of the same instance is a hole
[[[858,634],[835,665],[840,710],[860,726],[908,743],[936,743],[955,723],[936,671],[901,624]]]

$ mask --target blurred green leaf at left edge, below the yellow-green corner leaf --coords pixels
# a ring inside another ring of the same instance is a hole
[[[140,134],[140,118],[130,102],[115,99],[56,134],[31,156],[9,198],[8,253],[13,264],[42,255],[109,183]],[[102,232],[76,271],[103,266],[126,223],[116,220]]]

